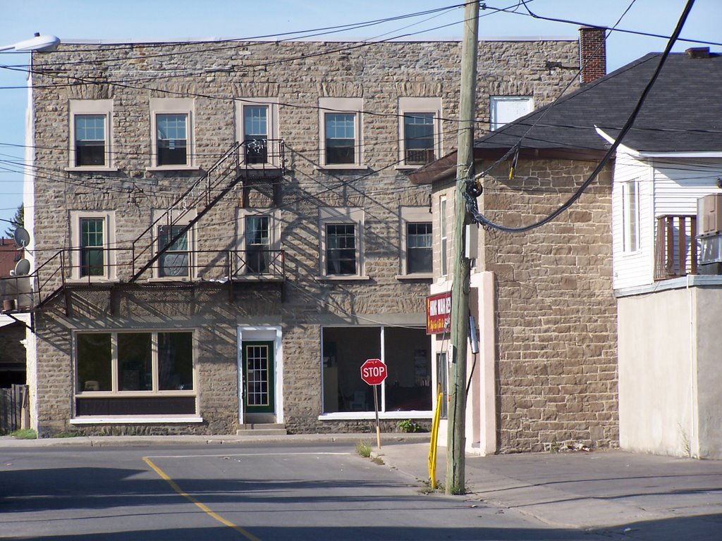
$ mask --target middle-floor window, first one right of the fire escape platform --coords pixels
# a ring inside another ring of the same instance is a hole
[[[328,277],[363,275],[363,211],[360,208],[321,208],[321,274]]]

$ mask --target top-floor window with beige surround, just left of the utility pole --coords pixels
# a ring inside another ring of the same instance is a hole
[[[399,163],[411,167],[441,155],[441,98],[399,98]]]

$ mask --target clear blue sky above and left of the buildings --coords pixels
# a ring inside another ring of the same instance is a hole
[[[319,27],[348,25],[462,4],[463,0],[0,0],[0,47],[32,37],[33,32],[61,40],[175,40],[253,38]],[[669,35],[685,0],[526,0],[542,17],[612,27],[631,5],[619,28]],[[518,0],[490,0],[487,6],[508,8]],[[575,37],[578,25],[531,17],[523,6],[516,13],[482,12],[479,35],[499,37]],[[463,7],[427,14],[316,39],[460,39]],[[682,37],[722,42],[722,1],[697,0]],[[418,33],[416,33],[418,32]],[[664,50],[666,40],[615,32],[607,40],[607,70],[652,51]],[[679,42],[681,51],[700,43]],[[721,45],[710,48],[722,52]],[[27,54],[0,53],[0,66],[26,64]],[[11,219],[22,202],[22,162],[25,143],[25,76],[0,67],[0,219]],[[14,88],[19,87],[19,88]],[[6,222],[0,221],[0,234]]]

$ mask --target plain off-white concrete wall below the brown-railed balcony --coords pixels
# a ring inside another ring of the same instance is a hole
[[[722,288],[622,297],[618,317],[622,449],[722,459]]]

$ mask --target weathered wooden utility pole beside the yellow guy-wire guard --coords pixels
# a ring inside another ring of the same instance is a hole
[[[454,198],[453,278],[451,283],[451,377],[446,443],[446,493],[463,494],[466,485],[466,343],[469,340],[469,259],[464,254],[467,179],[474,175],[474,118],[477,110],[479,3],[464,8],[461,44],[461,92],[458,105],[456,197]]]

